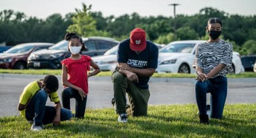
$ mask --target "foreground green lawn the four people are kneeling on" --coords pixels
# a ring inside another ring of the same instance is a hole
[[[227,104],[222,120],[199,124],[195,104],[149,106],[148,116],[117,122],[113,109],[88,109],[85,119],[46,125],[41,132],[19,116],[0,118],[0,138],[256,138],[256,104]]]

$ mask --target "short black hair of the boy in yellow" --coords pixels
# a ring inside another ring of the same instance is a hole
[[[51,92],[56,92],[59,89],[59,81],[54,75],[47,75],[43,79],[43,84]]]

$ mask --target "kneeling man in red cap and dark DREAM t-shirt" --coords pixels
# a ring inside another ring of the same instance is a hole
[[[132,30],[130,38],[119,44],[118,65],[112,75],[119,122],[127,122],[126,92],[131,104],[131,115],[147,115],[150,95],[148,82],[157,68],[157,59],[158,47],[146,40],[143,29]]]

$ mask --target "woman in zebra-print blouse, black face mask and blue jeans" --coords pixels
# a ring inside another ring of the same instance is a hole
[[[200,123],[209,123],[206,93],[211,93],[209,116],[222,118],[227,95],[227,69],[232,66],[232,44],[220,39],[222,22],[210,18],[207,23],[209,40],[196,48],[193,68],[196,69],[196,103]]]

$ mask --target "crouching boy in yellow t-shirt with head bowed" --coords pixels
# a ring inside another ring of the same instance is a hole
[[[18,110],[31,126],[31,130],[40,131],[42,125],[53,123],[60,125],[60,121],[71,119],[69,109],[61,108],[58,93],[59,81],[54,75],[47,75],[43,80],[33,81],[22,92]],[[55,103],[55,107],[45,106],[47,98]]]

